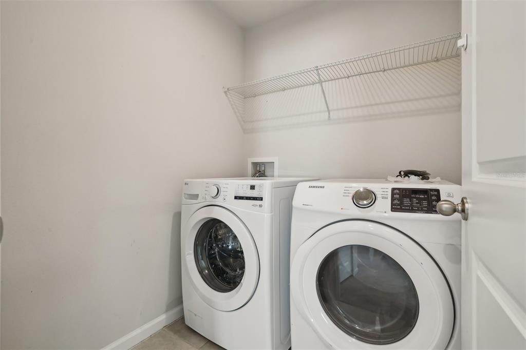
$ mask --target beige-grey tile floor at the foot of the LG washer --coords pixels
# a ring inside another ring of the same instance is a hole
[[[185,324],[185,318],[179,318],[159,332],[135,345],[133,350],[224,350],[210,342]]]

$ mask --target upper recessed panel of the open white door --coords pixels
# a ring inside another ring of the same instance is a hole
[[[526,2],[477,1],[473,7],[477,161],[524,157]]]

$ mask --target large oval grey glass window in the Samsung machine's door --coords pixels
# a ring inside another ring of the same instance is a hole
[[[369,344],[391,344],[417,323],[418,295],[389,255],[365,245],[330,252],[317,275],[323,309],[340,330]]]

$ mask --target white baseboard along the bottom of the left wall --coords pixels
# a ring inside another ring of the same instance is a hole
[[[128,350],[181,317],[183,317],[183,304],[174,307],[147,324],[140,326],[135,331],[117,339],[112,344],[105,346],[102,350]]]

